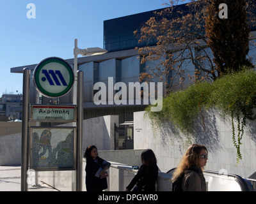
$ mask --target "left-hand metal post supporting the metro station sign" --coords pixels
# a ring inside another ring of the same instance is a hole
[[[28,120],[29,120],[29,77],[30,70],[23,69],[23,92],[22,92],[22,139],[21,139],[21,191],[28,191]]]

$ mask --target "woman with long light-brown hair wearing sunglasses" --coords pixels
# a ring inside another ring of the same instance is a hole
[[[202,170],[207,163],[207,154],[207,148],[199,144],[190,145],[186,150],[172,177],[172,182],[182,179],[181,191],[206,191]]]

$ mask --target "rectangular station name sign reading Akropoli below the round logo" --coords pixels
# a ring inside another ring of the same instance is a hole
[[[76,106],[31,105],[31,120],[41,122],[76,122]]]

